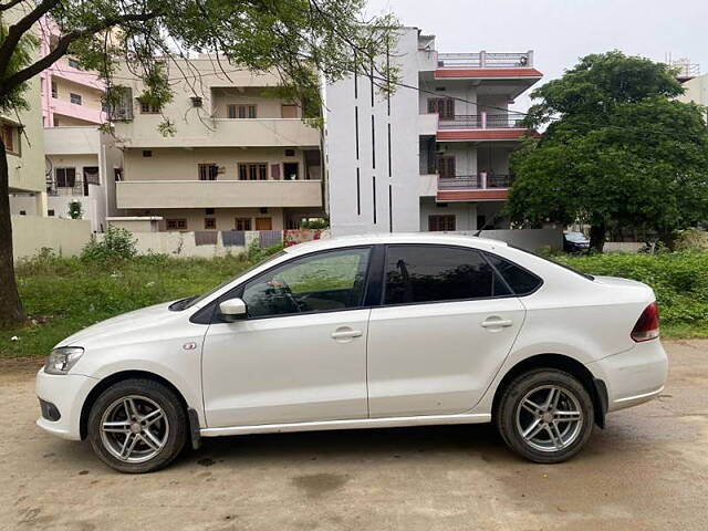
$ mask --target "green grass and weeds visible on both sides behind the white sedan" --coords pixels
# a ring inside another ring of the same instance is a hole
[[[85,326],[201,293],[258,258],[263,257],[207,260],[153,256],[116,261],[44,257],[22,262],[18,267],[20,294],[37,324],[0,330],[0,357],[45,356],[56,343]],[[708,337],[708,253],[560,256],[554,260],[583,272],[652,285],[662,306],[665,337]]]

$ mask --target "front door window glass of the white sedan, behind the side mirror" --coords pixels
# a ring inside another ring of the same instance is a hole
[[[249,317],[360,308],[369,249],[342,249],[289,261],[250,281],[242,299]]]

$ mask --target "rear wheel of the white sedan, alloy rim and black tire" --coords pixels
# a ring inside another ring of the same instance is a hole
[[[539,404],[539,398],[549,396],[544,395],[546,388],[549,395],[551,389],[559,389],[558,407],[546,408],[545,400]],[[529,407],[529,404],[539,404],[541,408]],[[560,420],[575,417],[572,413],[577,407],[582,413],[577,421]],[[577,454],[592,434],[594,418],[593,400],[583,384],[555,368],[539,368],[517,376],[503,389],[494,415],[501,438],[509,448],[525,459],[544,464],[565,461]],[[527,429],[530,440],[522,435]],[[540,431],[531,437],[535,429]]]

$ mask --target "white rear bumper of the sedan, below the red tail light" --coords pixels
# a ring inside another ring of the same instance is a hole
[[[659,340],[637,343],[628,351],[587,364],[607,387],[607,412],[656,398],[668,376],[668,360]]]

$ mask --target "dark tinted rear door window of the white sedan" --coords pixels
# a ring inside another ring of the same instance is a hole
[[[509,294],[478,251],[442,246],[389,246],[386,304]]]

